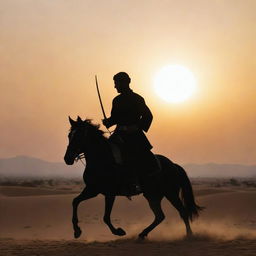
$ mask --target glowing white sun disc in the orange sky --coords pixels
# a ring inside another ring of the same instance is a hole
[[[165,66],[155,75],[154,90],[159,97],[167,102],[183,102],[195,92],[196,79],[186,67]]]

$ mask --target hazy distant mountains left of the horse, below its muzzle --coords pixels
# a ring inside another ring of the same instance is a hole
[[[82,177],[83,171],[81,163],[68,166],[27,156],[0,159],[0,177],[71,178]]]

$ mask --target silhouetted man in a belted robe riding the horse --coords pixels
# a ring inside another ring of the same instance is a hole
[[[127,73],[119,72],[113,79],[120,94],[113,99],[111,116],[104,119],[103,124],[107,128],[116,125],[110,141],[124,149],[126,166],[135,170],[136,178],[141,180],[159,169],[155,155],[150,151],[152,146],[144,134],[153,116],[143,97],[130,89],[131,79]]]

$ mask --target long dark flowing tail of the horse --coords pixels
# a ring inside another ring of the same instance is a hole
[[[196,204],[192,185],[185,170],[179,165],[176,166],[179,168],[181,174],[181,199],[189,219],[193,221],[194,218],[199,216],[199,212],[202,211],[204,207]]]

